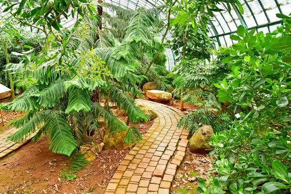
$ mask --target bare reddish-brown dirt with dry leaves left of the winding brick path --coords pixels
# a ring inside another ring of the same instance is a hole
[[[113,113],[116,111],[113,108]],[[127,120],[126,115],[117,117],[124,122]],[[153,121],[150,121],[134,126],[144,135],[152,124]],[[104,128],[101,133],[105,133]],[[109,180],[129,151],[103,150],[87,168],[76,173],[77,178],[65,181],[59,173],[65,169],[66,157],[52,153],[49,150],[49,138],[43,136],[38,142],[29,142],[0,160],[0,194],[104,194]]]

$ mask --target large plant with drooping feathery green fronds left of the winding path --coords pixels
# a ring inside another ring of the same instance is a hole
[[[100,29],[101,23],[97,16],[84,18],[77,28],[49,35],[50,50],[18,53],[23,55],[22,63],[6,66],[15,79],[22,80],[18,86],[26,91],[1,104],[1,109],[28,112],[11,123],[19,130],[8,140],[20,142],[38,130],[34,141],[47,133],[49,148],[70,156],[92,131],[99,131],[101,120],[112,133],[128,130],[127,143],[141,139],[136,128],[112,114],[109,102],[125,110],[132,123],[149,120],[131,97],[142,95],[136,84],[146,77],[138,75],[138,69],[153,53],[163,52],[155,34],[149,33],[160,23],[158,12],[144,8],[134,12],[119,38],[110,30],[113,25]],[[104,107],[99,97],[106,99]]]

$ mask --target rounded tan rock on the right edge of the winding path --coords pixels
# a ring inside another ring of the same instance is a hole
[[[196,132],[194,132],[192,138],[189,141],[190,151],[199,154],[209,153],[210,150],[207,149],[212,148],[210,145],[208,145],[212,134],[213,130],[210,125],[203,125],[201,128],[199,128]]]

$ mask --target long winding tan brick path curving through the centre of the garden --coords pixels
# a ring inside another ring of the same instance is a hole
[[[169,194],[177,168],[185,156],[189,131],[176,129],[184,114],[156,102],[137,102],[152,107],[159,117],[144,140],[120,163],[105,194]]]

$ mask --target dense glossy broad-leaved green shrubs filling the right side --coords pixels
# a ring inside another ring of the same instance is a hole
[[[291,20],[284,18],[285,28],[273,33],[239,26],[230,36],[238,43],[223,50],[231,72],[215,83],[217,97],[230,103],[236,119],[211,138],[218,176],[208,187],[199,180],[198,193],[290,193]]]

